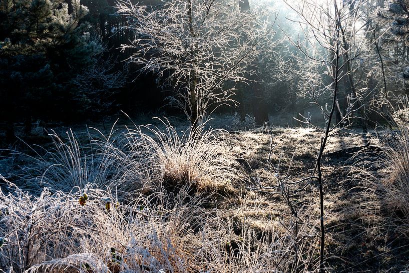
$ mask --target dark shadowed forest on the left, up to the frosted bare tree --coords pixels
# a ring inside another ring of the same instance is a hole
[[[99,120],[163,106],[155,77],[137,77],[137,68],[123,62],[127,53],[118,48],[130,33],[118,31],[126,18],[115,14],[114,1],[83,0],[85,16],[76,11],[79,2],[13,3],[0,11],[0,122],[9,140],[19,123],[30,132],[37,120]],[[50,22],[63,4],[66,14]]]

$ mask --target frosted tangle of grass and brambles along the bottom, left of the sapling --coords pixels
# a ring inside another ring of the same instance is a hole
[[[1,272],[289,272],[291,233],[234,230],[186,188],[123,203],[100,189],[0,191]],[[155,201],[152,201],[154,200]],[[236,233],[235,233],[236,231]]]

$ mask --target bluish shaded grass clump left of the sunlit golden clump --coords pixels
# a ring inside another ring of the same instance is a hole
[[[138,183],[143,178],[135,176],[144,173],[147,166],[141,165],[142,161],[129,160],[117,144],[120,134],[114,137],[114,132],[112,130],[108,136],[104,136],[98,130],[94,135],[88,131],[82,141],[72,130],[65,137],[52,132],[49,135],[52,140],[50,147],[34,145],[28,146],[29,152],[12,152],[26,162],[12,176],[27,188],[39,190],[48,187],[52,192],[68,193],[74,188],[89,187],[125,192],[139,188],[141,185]],[[133,179],[127,175],[129,169],[138,170]],[[124,183],[124,180],[127,182]]]

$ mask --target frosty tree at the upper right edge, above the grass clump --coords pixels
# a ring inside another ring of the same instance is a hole
[[[388,5],[387,5],[388,4]],[[374,86],[371,110],[387,122],[389,128],[396,126],[393,116],[405,107],[405,90],[409,69],[407,47],[407,3],[399,1],[368,0],[364,21],[367,25],[367,41],[372,51],[365,56],[367,74]],[[375,54],[373,54],[375,53]]]

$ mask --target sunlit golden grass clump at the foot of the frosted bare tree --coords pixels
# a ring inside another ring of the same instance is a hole
[[[169,121],[162,129],[143,126],[129,129],[126,147],[149,158],[150,179],[168,188],[191,186],[194,190],[233,190],[231,182],[242,181],[228,139],[222,130],[206,124],[178,132]]]

